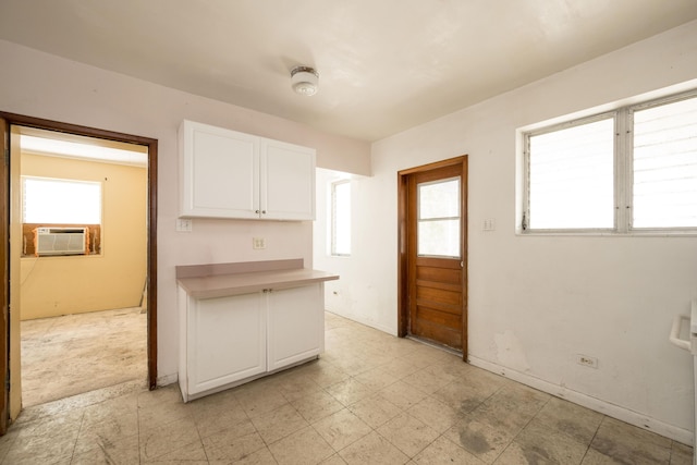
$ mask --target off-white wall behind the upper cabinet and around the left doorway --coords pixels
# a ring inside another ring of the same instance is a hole
[[[311,266],[310,222],[193,221],[175,232],[176,130],[183,119],[317,149],[319,167],[369,174],[369,145],[308,126],[87,66],[0,40],[0,111],[158,139],[158,378],[174,382],[179,321],[174,267],[304,258]],[[252,237],[267,248],[252,249]]]

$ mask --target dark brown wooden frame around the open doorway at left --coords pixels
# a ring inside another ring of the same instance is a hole
[[[148,232],[147,232],[147,356],[148,356],[148,389],[157,388],[157,147],[158,140],[149,137],[143,137],[131,134],[117,133],[113,131],[99,130],[95,127],[82,126],[77,124],[63,123],[59,121],[45,120],[40,118],[26,117],[0,111],[0,124],[3,125],[0,134],[3,136],[4,159],[2,170],[2,194],[0,194],[0,221],[2,221],[2,234],[0,240],[4,240],[4,247],[0,247],[0,257],[3,257],[3,264],[0,265],[0,279],[3,282],[2,304],[4,318],[0,316],[0,376],[3,376],[8,382],[3,384],[3,393],[0,397],[0,435],[7,430],[8,419],[8,394],[10,391],[9,382],[9,336],[10,321],[8,319],[7,309],[10,302],[8,282],[10,254],[5,250],[9,247],[9,222],[10,222],[10,126],[21,125],[27,127],[36,127],[40,130],[56,131],[62,133],[76,134],[82,136],[138,144],[148,147],[148,181],[147,181],[147,211],[148,211]]]

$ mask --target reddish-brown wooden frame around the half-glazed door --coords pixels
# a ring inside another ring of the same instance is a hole
[[[398,335],[409,335],[409,234],[408,234],[408,179],[411,175],[439,168],[462,166],[462,261],[463,261],[463,309],[462,309],[462,357],[467,362],[467,155],[436,161],[398,172]],[[413,238],[412,238],[413,240]]]

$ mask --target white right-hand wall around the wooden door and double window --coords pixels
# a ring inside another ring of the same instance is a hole
[[[396,332],[396,172],[467,154],[470,360],[689,442],[690,356],[668,334],[697,298],[697,237],[516,235],[516,129],[695,76],[697,22],[374,144],[329,307]]]

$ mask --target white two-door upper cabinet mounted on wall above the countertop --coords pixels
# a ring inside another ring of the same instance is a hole
[[[181,217],[315,219],[315,149],[183,121]]]

